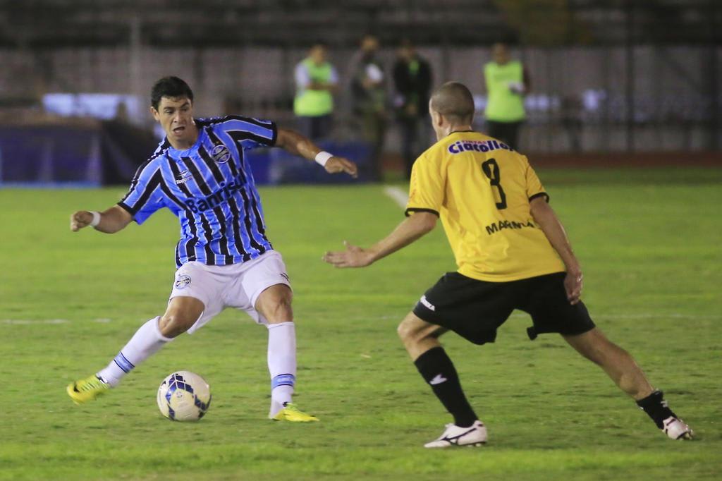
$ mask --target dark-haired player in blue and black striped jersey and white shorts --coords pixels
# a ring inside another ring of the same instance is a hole
[[[261,199],[243,152],[281,147],[316,160],[329,173],[352,176],[356,165],[272,121],[193,118],[193,92],[178,77],[155,83],[151,105],[165,139],[140,166],[121,202],[103,212],[75,212],[70,227],[116,233],[132,220],[142,224],[158,209],[170,209],[181,222],[181,240],[168,308],[141,326],[106,368],[71,383],[69,396],[78,404],[95,399],[173,338],[192,334],[232,307],[268,327],[269,417],[318,420],[292,403],[296,340],[290,282],[281,255],[266,236]]]

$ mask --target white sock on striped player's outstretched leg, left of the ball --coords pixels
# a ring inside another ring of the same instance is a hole
[[[128,344],[110,361],[108,367],[97,373],[97,376],[115,387],[136,365],[154,355],[167,342],[172,341],[172,338],[160,334],[158,321],[160,316],[140,326]]]

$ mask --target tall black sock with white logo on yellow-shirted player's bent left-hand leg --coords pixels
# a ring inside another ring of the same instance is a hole
[[[441,404],[451,413],[454,424],[462,428],[474,424],[478,419],[477,415],[466,400],[464,391],[461,390],[456,368],[453,367],[444,348],[433,347],[427,350],[414,361],[414,364]]]

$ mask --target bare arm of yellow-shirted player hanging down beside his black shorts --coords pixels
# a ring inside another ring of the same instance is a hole
[[[576,304],[579,302],[582,293],[582,281],[584,277],[579,261],[572,250],[572,244],[569,242],[569,238],[567,238],[564,226],[556,213],[554,213],[552,206],[550,206],[543,197],[533,199],[530,207],[532,217],[534,217],[536,223],[539,224],[544,235],[549,239],[549,243],[552,244],[552,247],[557,251],[557,254],[562,258],[567,268],[564,287],[567,290],[567,299],[569,302]]]

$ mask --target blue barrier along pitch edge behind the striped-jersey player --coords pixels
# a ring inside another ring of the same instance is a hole
[[[0,129],[0,186],[102,186],[128,184],[157,141],[145,131],[116,122],[84,126],[35,125]],[[320,142],[319,147],[353,160],[359,178],[331,175],[316,162],[284,149],[245,151],[259,185],[370,181],[371,148],[362,142]]]

